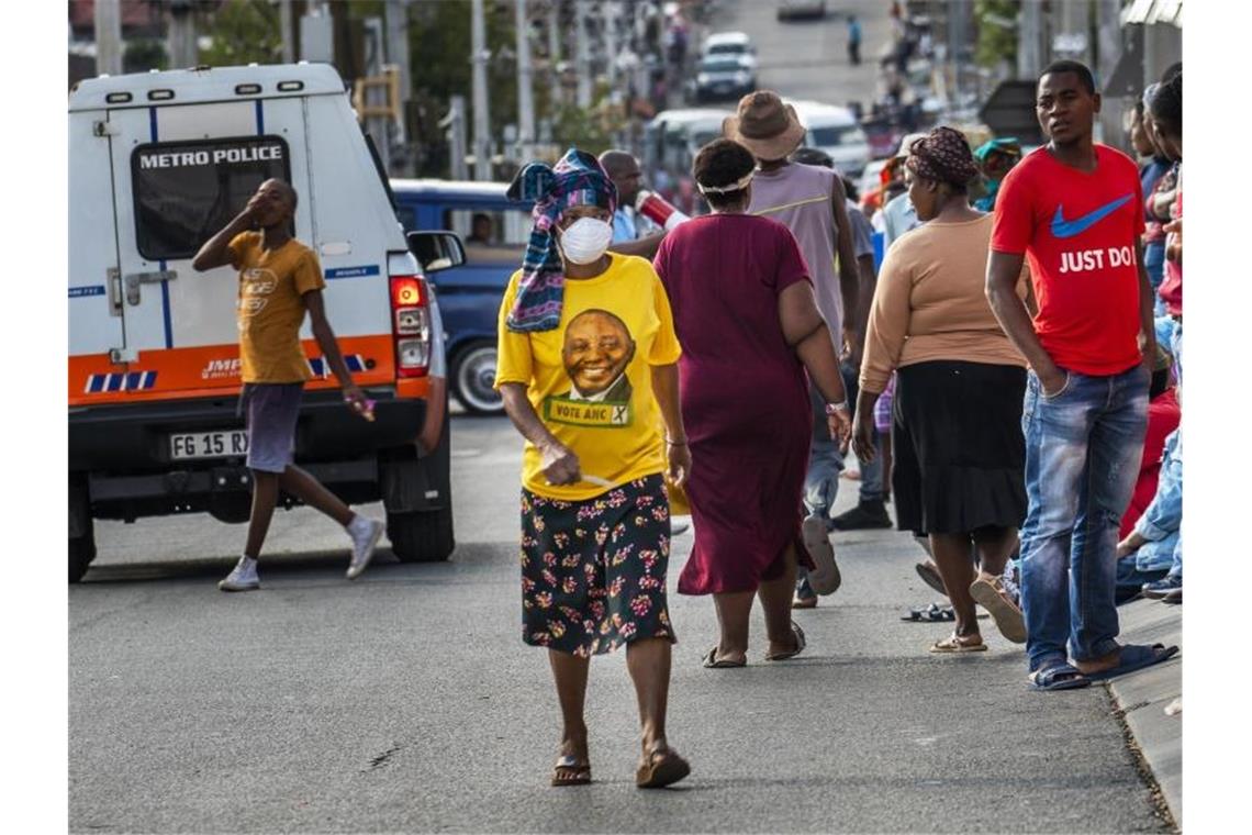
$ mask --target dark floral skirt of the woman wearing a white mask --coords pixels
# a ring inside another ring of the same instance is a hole
[[[665,603],[670,506],[661,476],[585,502],[522,491],[522,640],[592,656],[675,642]]]

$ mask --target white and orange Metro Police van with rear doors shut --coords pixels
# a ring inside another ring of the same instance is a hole
[[[413,253],[433,269],[464,250],[451,233],[406,240],[336,70],[90,79],[70,94],[69,130],[70,582],[95,556],[94,518],[248,518],[238,277],[195,273],[192,258],[269,178],[299,194],[294,234],[321,259],[344,361],[377,402],[373,423],[343,404],[305,323],[314,379],[295,461],[347,502],[382,499],[401,560],[447,558],[442,323]]]

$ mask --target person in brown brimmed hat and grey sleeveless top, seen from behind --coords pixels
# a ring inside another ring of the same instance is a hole
[[[756,158],[757,173],[752,179],[747,214],[770,218],[791,230],[809,268],[818,310],[830,329],[835,354],[846,353],[851,362],[860,364],[869,299],[861,299],[844,184],[838,172],[788,159],[800,146],[804,133],[795,109],[771,90],[745,95],[735,115],[722,123],[722,134],[746,146]],[[828,507],[831,507],[839,489],[846,444],[815,443],[813,449],[805,492],[826,494]],[[803,526],[805,547],[810,552],[833,555],[829,513],[814,513],[814,510],[809,507],[810,516]],[[811,597],[814,591],[831,593],[835,587],[813,590],[808,577],[800,577],[803,597]]]

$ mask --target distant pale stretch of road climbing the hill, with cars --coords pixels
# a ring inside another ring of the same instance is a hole
[[[876,89],[878,56],[890,39],[885,0],[830,0],[823,20],[779,21],[772,0],[724,0],[709,30],[745,31],[756,45],[761,89],[791,99],[865,110]],[[848,60],[848,14],[861,21],[861,63]]]

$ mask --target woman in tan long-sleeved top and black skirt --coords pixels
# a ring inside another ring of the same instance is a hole
[[[1022,610],[1000,586],[1025,518],[1025,362],[983,292],[992,215],[969,207],[977,175],[965,138],[935,128],[910,148],[909,197],[925,225],[901,237],[879,273],[860,372],[853,444],[874,456],[874,403],[899,371],[891,426],[896,523],[929,536],[957,615],[931,652],[985,650],[974,602],[1015,643]],[[1025,292],[1024,283],[1020,292]],[[970,543],[979,557],[975,577]]]

